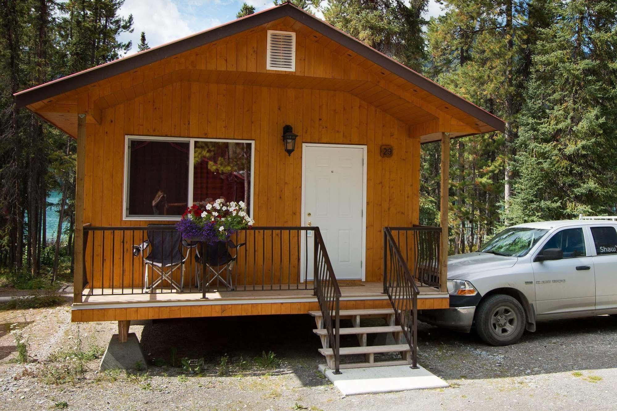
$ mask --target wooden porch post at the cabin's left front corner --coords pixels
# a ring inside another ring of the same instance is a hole
[[[77,173],[75,175],[75,265],[73,302],[81,302],[83,291],[83,181],[86,172],[86,115],[77,115]]]

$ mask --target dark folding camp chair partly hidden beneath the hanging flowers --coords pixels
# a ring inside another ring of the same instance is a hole
[[[236,246],[233,241],[229,240],[226,243],[219,241],[212,245],[205,247],[205,275],[204,282],[205,287],[209,288],[212,281],[217,280],[217,284],[221,281],[228,289],[234,289],[231,281],[231,272],[233,271],[234,264],[238,258],[238,251],[240,247],[245,246],[246,243],[240,243]],[[234,249],[234,255],[230,253],[230,249]],[[195,253],[195,261],[197,262],[196,280],[197,287],[200,287],[200,273],[201,265],[203,264],[203,249],[199,247]],[[225,278],[223,278],[225,276]]]

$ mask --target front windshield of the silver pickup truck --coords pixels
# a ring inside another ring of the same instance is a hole
[[[489,252],[507,257],[522,257],[536,244],[549,230],[544,228],[506,228],[491,241],[484,244],[480,252]]]

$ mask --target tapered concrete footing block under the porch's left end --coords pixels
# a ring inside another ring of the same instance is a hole
[[[101,360],[99,371],[113,368],[136,371],[148,369],[146,357],[144,357],[144,352],[141,351],[141,345],[139,345],[139,339],[137,339],[135,333],[129,333],[126,342],[118,341],[118,334],[112,335]]]

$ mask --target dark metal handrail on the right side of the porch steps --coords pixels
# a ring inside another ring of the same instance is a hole
[[[418,293],[420,290],[407,267],[389,227],[384,227],[384,293],[394,318],[412,351],[412,368],[418,368]],[[410,317],[411,316],[411,317]]]

